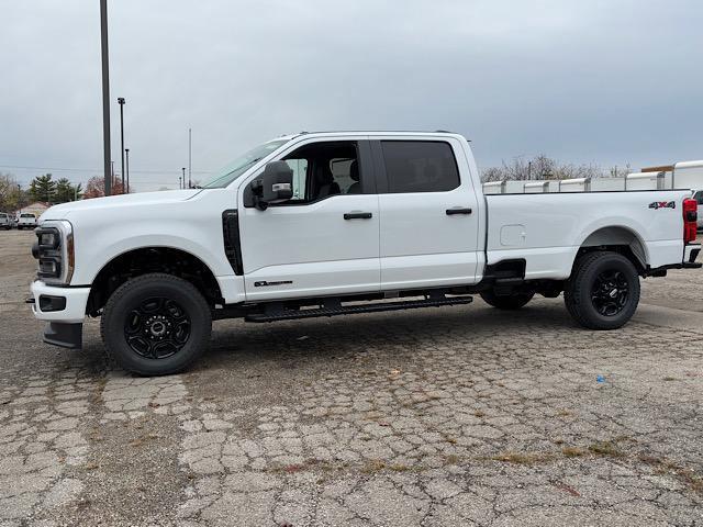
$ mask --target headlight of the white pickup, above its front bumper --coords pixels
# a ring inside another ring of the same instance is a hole
[[[74,274],[74,227],[69,222],[45,222],[34,229],[32,256],[38,260],[37,277],[47,283],[68,284]]]

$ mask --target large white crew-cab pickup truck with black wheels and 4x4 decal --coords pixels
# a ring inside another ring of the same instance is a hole
[[[592,329],[621,327],[639,277],[699,268],[690,190],[483,195],[469,143],[432,132],[301,133],[202,188],[56,205],[36,228],[33,310],[79,348],[101,316],[125,369],[166,374],[248,322],[563,292]]]

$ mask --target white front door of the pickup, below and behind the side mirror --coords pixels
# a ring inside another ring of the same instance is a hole
[[[316,141],[282,156],[293,198],[266,211],[239,198],[247,301],[380,288],[379,202],[368,142]]]

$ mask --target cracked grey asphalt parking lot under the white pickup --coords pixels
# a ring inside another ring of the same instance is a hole
[[[143,379],[41,341],[32,233],[0,232],[0,527],[703,525],[703,272],[634,321],[561,299],[216,323]]]

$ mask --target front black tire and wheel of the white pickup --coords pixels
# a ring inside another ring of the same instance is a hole
[[[108,354],[141,375],[187,369],[208,347],[211,332],[210,306],[200,291],[165,273],[143,274],[120,285],[100,322]]]

